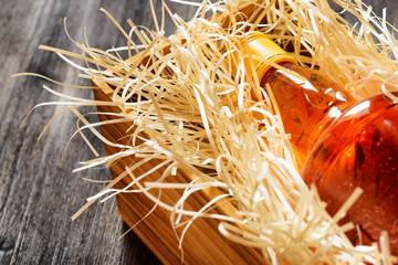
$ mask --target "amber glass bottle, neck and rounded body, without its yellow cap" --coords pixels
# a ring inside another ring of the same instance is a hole
[[[385,95],[355,103],[327,77],[293,64],[284,66],[306,82],[274,68],[261,84],[271,86],[304,180],[316,184],[332,215],[356,188],[363,189],[342,221],[357,226],[348,237],[355,244],[370,244],[387,231],[397,255],[397,103]]]

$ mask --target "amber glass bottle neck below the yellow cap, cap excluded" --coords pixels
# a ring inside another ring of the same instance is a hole
[[[261,87],[275,98],[286,134],[302,168],[310,149],[322,131],[329,126],[354,98],[332,80],[316,72],[281,63],[283,68],[270,68],[261,80]]]

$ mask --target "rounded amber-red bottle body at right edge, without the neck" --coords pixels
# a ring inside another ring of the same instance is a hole
[[[398,254],[398,103],[377,95],[345,109],[320,136],[302,176],[316,184],[332,215],[363,189],[342,221],[357,226],[348,237],[370,244],[387,231]]]

